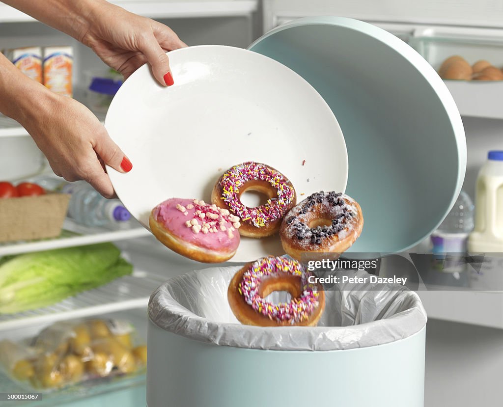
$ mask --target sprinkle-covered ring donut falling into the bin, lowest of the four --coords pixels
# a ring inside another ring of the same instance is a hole
[[[308,282],[310,275],[298,261],[286,257],[248,263],[230,281],[230,308],[244,325],[315,326],[325,307],[325,293]],[[278,304],[266,300],[273,291],[288,291],[292,299]]]

